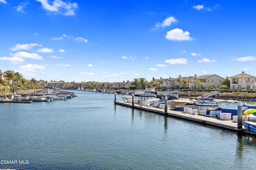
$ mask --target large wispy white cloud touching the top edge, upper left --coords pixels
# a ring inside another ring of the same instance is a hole
[[[62,0],[53,0],[51,4],[48,3],[48,0],[36,0],[37,2],[41,2],[44,10],[48,12],[52,12],[53,14],[62,14],[64,16],[73,16],[75,15],[75,10],[78,7],[76,2],[74,3],[66,3]]]

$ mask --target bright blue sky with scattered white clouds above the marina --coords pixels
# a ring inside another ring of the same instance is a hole
[[[0,0],[0,69],[30,80],[256,76],[253,0]]]

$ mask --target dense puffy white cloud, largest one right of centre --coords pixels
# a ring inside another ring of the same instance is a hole
[[[182,29],[175,28],[168,31],[165,37],[166,39],[174,41],[192,40],[192,38],[189,37],[189,34],[190,33],[188,31],[183,32]]]

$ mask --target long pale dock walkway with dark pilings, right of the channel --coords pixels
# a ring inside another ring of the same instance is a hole
[[[127,103],[127,102],[120,102],[120,101],[116,102],[116,101],[114,101],[114,104],[121,105],[121,106],[132,107],[132,104]],[[135,109],[142,109],[142,110],[146,110],[146,111],[151,111],[151,112],[154,112],[154,113],[159,113],[159,114],[165,115],[164,109],[160,109],[160,108],[156,108],[156,107],[148,107],[148,106],[140,107],[139,104],[134,104],[134,108]],[[220,120],[220,119],[216,119],[216,118],[213,118],[213,117],[207,117],[207,116],[202,116],[202,115],[193,115],[193,114],[190,114],[190,113],[184,113],[184,112],[175,111],[175,110],[172,110],[172,109],[171,110],[168,109],[167,112],[168,112],[167,113],[168,116],[171,116],[171,117],[177,117],[179,119],[186,119],[186,120],[194,121],[194,122],[201,123],[201,124],[204,124],[204,125],[210,125],[210,126],[219,127],[219,128],[222,128],[222,129],[228,129],[230,131],[238,132],[237,123],[233,122],[232,120]],[[244,134],[255,136],[254,133],[248,132],[246,130],[242,130],[241,132],[244,133]]]

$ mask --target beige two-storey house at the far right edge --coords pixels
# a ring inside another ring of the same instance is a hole
[[[256,77],[242,72],[236,76],[230,77],[230,90],[255,90]]]

